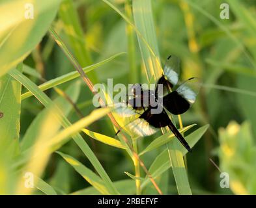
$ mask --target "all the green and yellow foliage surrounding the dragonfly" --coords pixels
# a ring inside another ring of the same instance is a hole
[[[3,0],[0,25],[0,194],[256,194],[255,1]],[[154,83],[170,54],[182,80],[203,81],[174,118],[193,152],[166,131],[126,133],[130,149],[79,70],[94,84]]]

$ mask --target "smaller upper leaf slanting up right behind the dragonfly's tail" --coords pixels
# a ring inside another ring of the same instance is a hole
[[[188,131],[188,129],[192,128],[195,125],[196,124],[188,125],[188,126],[182,128],[182,129],[179,129],[179,132],[184,133],[184,132]],[[159,148],[160,146],[162,146],[162,145],[166,144],[167,142],[170,142],[171,140],[173,140],[173,138],[175,138],[175,135],[173,135],[172,132],[165,133],[164,135],[161,135],[158,138],[155,138],[147,146],[147,148],[143,149],[143,151],[141,151],[141,153],[139,153],[139,155],[143,155],[143,154],[147,153],[148,151]]]

